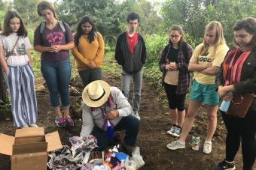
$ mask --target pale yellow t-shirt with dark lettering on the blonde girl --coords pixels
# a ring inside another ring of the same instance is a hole
[[[203,43],[198,45],[193,52],[193,55],[190,59],[191,63],[195,64],[212,64],[212,66],[221,67],[221,63],[224,60],[225,55],[228,51],[228,46],[226,43],[220,44],[217,49],[210,46],[208,51],[200,55],[200,49],[203,46]],[[215,52],[216,51],[216,52]],[[215,75],[207,75],[203,73],[199,73],[197,71],[194,72],[194,79],[202,85],[212,85],[215,84]]]

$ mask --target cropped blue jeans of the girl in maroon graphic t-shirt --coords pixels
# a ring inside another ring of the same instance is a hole
[[[59,96],[63,109],[69,108],[69,83],[71,77],[71,65],[69,58],[64,61],[41,60],[41,73],[47,83],[50,92],[50,103],[53,109],[59,108]]]

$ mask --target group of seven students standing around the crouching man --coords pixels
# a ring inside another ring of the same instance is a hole
[[[84,86],[87,86],[94,80],[102,79],[104,40],[89,16],[81,19],[77,31],[72,35],[69,25],[57,20],[55,10],[48,1],[41,1],[37,11],[45,21],[35,29],[34,48],[41,52],[41,72],[50,92],[50,103],[56,115],[55,122],[59,127],[74,126],[69,115],[69,49],[72,49],[78,73]],[[114,58],[122,67],[121,89],[126,98],[129,97],[130,81],[133,78],[133,114],[140,119],[142,67],[145,64],[146,48],[142,35],[136,32],[139,15],[130,13],[126,21],[128,30],[117,38]],[[210,22],[206,25],[203,43],[193,52],[184,40],[181,26],[173,25],[169,30],[169,43],[162,50],[159,65],[163,71],[163,86],[172,118],[172,127],[167,133],[180,137],[167,145],[170,150],[185,148],[185,139],[194,118],[200,105],[205,103],[208,133],[203,152],[211,153],[212,136],[217,126],[219,97],[232,100],[233,93],[256,93],[256,19],[249,17],[237,21],[233,31],[235,46],[228,51],[221,23]],[[22,128],[38,127],[35,124],[38,109],[29,52],[31,45],[27,34],[20,14],[16,10],[9,10],[5,14],[4,31],[0,34],[0,63],[10,89],[14,126]],[[194,82],[187,115],[184,118],[184,101],[190,86],[189,72],[192,71]],[[218,163],[215,169],[235,169],[234,157],[240,140],[243,169],[251,169],[256,157],[255,98],[245,118],[236,118],[225,112],[221,112],[221,115],[227,127],[226,158]]]

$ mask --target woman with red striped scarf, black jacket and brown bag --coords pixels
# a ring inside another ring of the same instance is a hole
[[[232,100],[233,94],[256,94],[256,20],[241,19],[233,26],[235,46],[221,64],[216,86],[223,100]],[[252,169],[256,157],[256,98],[245,118],[227,115],[221,111],[227,127],[226,158],[215,166],[216,170],[236,169],[234,158],[242,143],[243,169]]]

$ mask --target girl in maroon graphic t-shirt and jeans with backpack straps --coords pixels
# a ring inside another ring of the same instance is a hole
[[[69,49],[74,47],[72,31],[68,24],[57,20],[55,9],[50,2],[39,2],[37,12],[45,22],[41,22],[35,29],[34,48],[41,52],[41,73],[50,92],[50,103],[56,115],[55,123],[58,127],[72,127],[74,122],[69,115]],[[64,117],[60,109],[59,96]]]

